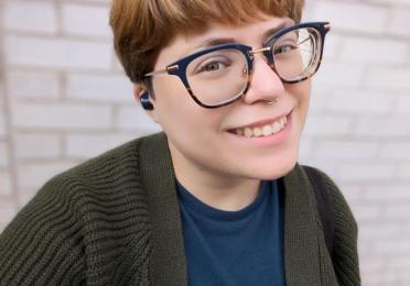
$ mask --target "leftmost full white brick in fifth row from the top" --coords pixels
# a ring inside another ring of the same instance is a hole
[[[15,134],[14,152],[19,160],[55,158],[61,155],[61,139],[51,134]]]

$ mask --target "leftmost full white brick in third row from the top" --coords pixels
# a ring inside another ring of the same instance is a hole
[[[22,82],[24,82],[22,85]],[[42,72],[9,72],[8,92],[10,97],[46,98],[61,97],[62,87],[57,74]]]

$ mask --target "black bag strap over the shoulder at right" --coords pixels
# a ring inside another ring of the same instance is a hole
[[[333,256],[333,244],[335,240],[335,216],[331,200],[331,194],[321,174],[313,167],[303,166],[312,184],[313,193],[316,197],[319,215],[321,217],[326,246],[331,257]]]

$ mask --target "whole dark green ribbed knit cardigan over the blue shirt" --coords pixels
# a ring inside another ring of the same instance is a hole
[[[287,285],[359,285],[356,222],[322,175],[335,209],[333,262],[296,165],[282,178]],[[0,285],[186,285],[166,136],[126,143],[46,183],[0,235]]]

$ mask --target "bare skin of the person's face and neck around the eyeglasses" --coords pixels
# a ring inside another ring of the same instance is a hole
[[[233,38],[260,48],[267,31],[292,24],[288,18],[267,15],[240,26],[214,23],[202,34],[176,35],[160,52],[154,70],[204,48],[208,40]],[[282,177],[294,167],[309,109],[310,79],[284,85],[258,54],[248,92],[217,109],[195,103],[175,76],[155,76],[152,82],[155,99],[151,99],[154,109],[149,114],[168,135],[176,178],[203,202],[239,210],[256,198],[261,179]],[[143,91],[143,86],[136,86],[137,98]],[[267,103],[272,100],[277,102]],[[280,140],[246,139],[229,132],[255,122],[273,122],[287,113],[290,129]]]

